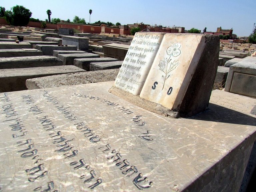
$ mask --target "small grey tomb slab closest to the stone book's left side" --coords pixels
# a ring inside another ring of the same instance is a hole
[[[122,63],[123,61],[90,63],[90,71],[118,69],[122,66]]]

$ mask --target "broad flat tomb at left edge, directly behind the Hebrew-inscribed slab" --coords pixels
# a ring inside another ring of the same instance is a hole
[[[75,66],[0,69],[0,92],[26,90],[27,79],[82,71]]]

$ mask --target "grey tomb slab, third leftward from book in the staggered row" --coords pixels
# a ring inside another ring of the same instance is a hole
[[[60,58],[63,61],[64,65],[74,65],[74,59],[77,59],[77,58],[99,58],[99,57],[100,57],[99,55],[94,53],[58,54],[58,58]]]

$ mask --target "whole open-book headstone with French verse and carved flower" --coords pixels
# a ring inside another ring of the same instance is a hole
[[[113,89],[139,95],[139,103],[143,98],[160,104],[162,111],[170,110],[164,115],[191,116],[208,106],[218,52],[219,39],[213,35],[136,33]]]

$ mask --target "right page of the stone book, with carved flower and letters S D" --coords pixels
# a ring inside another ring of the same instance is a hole
[[[177,108],[205,44],[201,35],[165,34],[140,97],[169,109]]]

